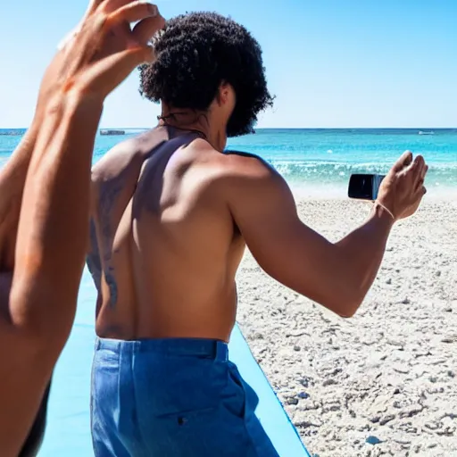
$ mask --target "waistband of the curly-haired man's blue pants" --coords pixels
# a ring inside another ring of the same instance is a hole
[[[154,338],[126,341],[96,337],[96,351],[203,356],[217,361],[228,361],[227,343],[205,338]]]

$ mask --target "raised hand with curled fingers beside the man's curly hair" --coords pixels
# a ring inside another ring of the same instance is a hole
[[[130,23],[137,22],[131,29]],[[165,21],[154,4],[92,0],[87,12],[46,69],[37,115],[59,93],[76,91],[102,101],[137,65],[153,62],[149,40]]]

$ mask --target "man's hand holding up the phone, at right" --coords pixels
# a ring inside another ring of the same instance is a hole
[[[377,201],[392,212],[395,220],[407,218],[418,209],[427,192],[424,187],[427,170],[428,165],[421,155],[413,160],[411,152],[407,151],[383,179]]]

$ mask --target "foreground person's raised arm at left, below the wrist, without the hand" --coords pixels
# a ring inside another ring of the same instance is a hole
[[[13,345],[0,369],[2,455],[17,455],[71,330],[100,112],[99,104],[60,101],[46,117],[29,165],[9,299],[11,325],[2,335]]]

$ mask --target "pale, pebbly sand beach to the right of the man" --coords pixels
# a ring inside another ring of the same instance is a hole
[[[298,200],[332,241],[370,204]],[[378,278],[344,320],[269,278],[246,253],[238,321],[312,455],[457,456],[457,204],[396,224]]]

